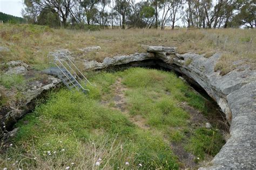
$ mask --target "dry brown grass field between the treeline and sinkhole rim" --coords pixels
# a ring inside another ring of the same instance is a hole
[[[233,68],[233,61],[243,60],[255,65],[256,31],[241,29],[219,30],[55,30],[37,25],[0,25],[0,46],[11,52],[0,53],[0,62],[23,60],[42,69],[48,63],[46,54],[66,48],[77,58],[102,61],[107,56],[145,52],[141,45],[176,46],[178,53],[195,52],[210,57],[215,52],[228,53],[216,69]],[[99,52],[83,53],[78,48],[100,46]],[[42,65],[44,64],[44,65]],[[235,67],[235,66],[234,66]],[[228,69],[230,70],[230,69]],[[225,71],[227,72],[227,71]]]

